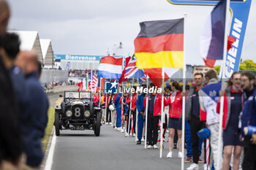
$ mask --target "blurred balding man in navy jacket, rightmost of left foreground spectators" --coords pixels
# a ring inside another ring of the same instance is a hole
[[[24,112],[20,114],[20,130],[23,135],[23,151],[26,154],[26,165],[23,169],[39,169],[44,152],[42,138],[48,123],[48,97],[39,82],[39,64],[37,53],[23,51],[19,53],[17,66],[25,74],[29,99]]]

